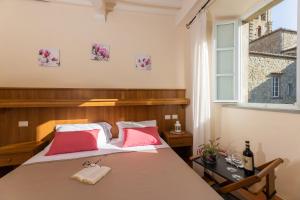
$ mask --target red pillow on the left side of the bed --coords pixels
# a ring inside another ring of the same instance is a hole
[[[46,156],[97,150],[98,129],[86,131],[56,132]]]

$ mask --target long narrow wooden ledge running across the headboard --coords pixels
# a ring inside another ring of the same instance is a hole
[[[113,107],[113,106],[161,106],[188,105],[186,98],[157,99],[17,99],[0,100],[0,108],[56,108],[56,107]]]

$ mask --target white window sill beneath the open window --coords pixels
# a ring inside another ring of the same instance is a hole
[[[224,104],[223,107],[300,114],[300,107],[294,104],[282,105],[282,104],[240,103],[240,104]]]

